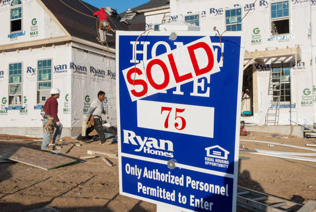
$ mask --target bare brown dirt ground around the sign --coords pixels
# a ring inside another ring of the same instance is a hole
[[[287,139],[262,137],[272,135],[268,133],[252,133],[252,135],[253,139],[250,139],[250,136],[240,139],[302,147],[315,141],[296,137]],[[0,135],[0,148],[16,145],[39,150],[41,146],[41,142],[34,139],[10,141],[12,139],[17,138]],[[62,139],[65,143],[76,143],[69,137]],[[244,144],[248,149],[316,153],[278,145],[268,147],[267,144],[259,142],[241,141],[240,144]],[[24,212],[45,206],[54,207],[61,212],[156,211],[155,204],[119,194],[117,159],[109,157],[110,161],[116,164],[109,167],[101,160],[104,155],[97,154],[96,158],[86,160],[78,158],[86,156],[87,150],[111,152],[117,151],[117,148],[117,144],[99,145],[93,142],[73,146],[66,155],[75,158],[78,162],[49,171],[22,163],[0,163],[0,211]],[[316,150],[316,147],[309,148]],[[239,186],[300,204],[305,204],[308,200],[316,201],[315,163],[288,159],[285,161],[277,157],[249,153],[240,153],[240,156],[250,159],[239,161]],[[237,211],[249,210],[238,207]]]

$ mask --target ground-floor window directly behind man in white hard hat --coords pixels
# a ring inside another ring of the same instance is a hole
[[[50,96],[51,59],[37,61],[37,103],[44,104]]]

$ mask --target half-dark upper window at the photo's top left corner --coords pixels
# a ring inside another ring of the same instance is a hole
[[[10,7],[10,33],[22,31],[22,2],[13,0]]]

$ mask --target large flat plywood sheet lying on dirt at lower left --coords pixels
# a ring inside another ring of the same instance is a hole
[[[76,162],[68,157],[18,146],[3,146],[0,148],[0,156],[44,170],[55,169]]]

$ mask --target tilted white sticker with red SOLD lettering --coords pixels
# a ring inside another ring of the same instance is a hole
[[[219,64],[209,37],[123,70],[132,101],[217,73]]]

